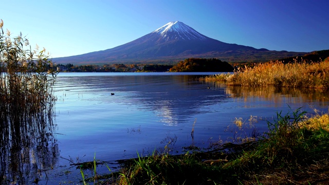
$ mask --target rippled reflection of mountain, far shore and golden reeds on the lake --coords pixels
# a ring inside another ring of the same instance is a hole
[[[199,76],[66,76],[60,77],[58,89],[69,90],[79,98],[90,93],[87,101],[96,101],[109,109],[132,105],[143,112],[152,112],[166,125],[190,121],[194,115],[213,113],[211,106],[227,102],[245,102],[245,106],[264,104],[280,111],[291,104],[328,106],[328,92],[315,89],[277,87],[238,87],[195,80]],[[208,88],[210,87],[210,89]],[[68,93],[68,92],[67,92]],[[115,96],[108,98],[111,93]],[[95,95],[100,95],[97,97]],[[67,99],[67,97],[65,97]],[[96,103],[95,102],[95,103]],[[98,104],[96,103],[96,104]],[[298,105],[298,106],[299,106]],[[71,106],[71,105],[70,105]],[[218,110],[223,107],[218,108]]]

